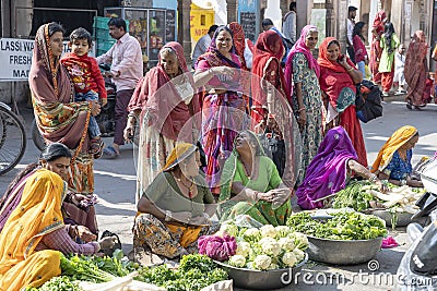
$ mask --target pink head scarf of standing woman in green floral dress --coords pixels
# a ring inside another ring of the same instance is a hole
[[[302,52],[304,53],[305,58],[308,61],[308,68],[310,70],[314,70],[317,77],[320,76],[320,68],[319,64],[317,63],[317,60],[315,57],[312,57],[311,50],[308,49],[306,45],[307,36],[311,32],[318,32],[317,27],[314,25],[306,25],[304,28],[302,28],[300,37],[297,39],[296,44],[294,44],[293,48],[291,49],[286,63],[285,63],[285,81],[288,90],[292,94],[293,90],[293,84],[292,84],[292,78],[293,78],[293,57],[296,52]]]

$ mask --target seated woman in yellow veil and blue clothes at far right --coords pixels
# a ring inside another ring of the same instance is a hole
[[[380,180],[388,180],[395,185],[423,187],[422,181],[411,175],[413,173],[411,158],[417,141],[416,128],[405,125],[397,130],[379,150],[371,172],[378,174]]]

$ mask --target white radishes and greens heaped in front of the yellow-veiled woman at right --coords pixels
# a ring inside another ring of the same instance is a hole
[[[379,187],[368,181],[352,181],[335,194],[333,208],[352,207],[357,211],[370,207],[371,201],[380,202],[385,208],[393,208],[397,213],[415,214],[415,202],[423,195],[424,190],[412,189],[408,185],[390,184],[390,192],[383,194]]]

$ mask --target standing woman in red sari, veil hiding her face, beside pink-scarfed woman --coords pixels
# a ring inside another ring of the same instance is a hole
[[[284,140],[285,156],[273,154],[284,183],[293,186],[300,161],[296,149],[300,146],[297,123],[290,104],[281,59],[284,46],[279,34],[273,31],[261,33],[255,46],[252,66],[252,128],[258,133],[269,132],[279,141]],[[280,144],[279,144],[280,145]]]

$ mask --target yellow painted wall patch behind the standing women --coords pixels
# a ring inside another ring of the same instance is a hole
[[[190,33],[191,41],[196,44],[202,36],[208,33],[210,26],[214,24],[214,10],[201,9],[191,3]]]

